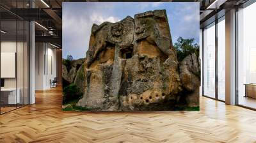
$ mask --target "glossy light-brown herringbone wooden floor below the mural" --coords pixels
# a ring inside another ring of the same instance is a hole
[[[0,116],[0,142],[256,142],[256,112],[200,97],[200,112],[61,111],[61,89]]]

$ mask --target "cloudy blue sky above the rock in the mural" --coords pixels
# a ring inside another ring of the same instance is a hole
[[[150,10],[166,10],[173,44],[177,38],[195,38],[199,43],[199,3],[194,2],[65,2],[62,3],[63,58],[86,56],[93,24],[118,22],[128,15]]]

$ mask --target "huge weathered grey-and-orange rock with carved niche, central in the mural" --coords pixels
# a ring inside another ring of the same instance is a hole
[[[83,67],[77,106],[92,110],[172,110],[182,87],[195,87],[182,86],[187,71],[179,73],[165,10],[93,24]]]

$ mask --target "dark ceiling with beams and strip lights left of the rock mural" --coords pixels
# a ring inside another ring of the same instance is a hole
[[[62,11],[61,0],[1,0],[0,14],[2,29],[8,31],[4,37],[12,38],[23,30],[18,28],[16,20],[33,20],[35,24],[36,41],[50,42],[61,47]],[[18,22],[19,25],[19,22]]]

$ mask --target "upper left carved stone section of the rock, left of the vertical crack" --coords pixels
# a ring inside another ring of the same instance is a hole
[[[128,45],[133,41],[134,19],[126,17],[116,23],[104,22],[97,26],[93,24],[89,49],[86,52],[86,67],[88,68],[108,45]]]

